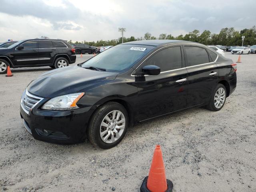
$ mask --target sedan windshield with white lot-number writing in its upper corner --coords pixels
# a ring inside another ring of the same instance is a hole
[[[132,67],[155,46],[121,44],[108,49],[84,62],[83,68],[104,68],[108,72],[120,72]]]

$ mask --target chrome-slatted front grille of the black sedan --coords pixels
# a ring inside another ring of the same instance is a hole
[[[42,99],[43,98],[34,96],[30,94],[28,90],[25,90],[24,93],[22,94],[20,105],[22,109],[26,112],[26,114],[30,115],[31,109]]]

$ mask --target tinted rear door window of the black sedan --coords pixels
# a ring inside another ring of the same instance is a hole
[[[208,53],[204,48],[195,46],[185,46],[186,50],[186,67],[200,65],[209,62]]]

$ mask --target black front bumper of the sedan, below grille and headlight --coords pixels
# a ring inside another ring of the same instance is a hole
[[[41,110],[38,103],[28,115],[20,106],[24,127],[35,139],[58,143],[74,144],[86,138],[86,128],[96,106],[68,111]]]

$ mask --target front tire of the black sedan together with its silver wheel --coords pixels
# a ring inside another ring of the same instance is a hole
[[[114,111],[116,112],[114,113]],[[119,112],[120,115],[118,121],[116,118],[118,117]],[[115,117],[113,123],[112,120],[114,114]],[[109,120],[106,120],[106,118]],[[112,148],[124,138],[128,129],[128,122],[128,114],[124,106],[117,102],[107,102],[100,106],[92,115],[88,127],[88,139],[93,145],[98,145],[102,149]],[[122,128],[119,129],[118,127]],[[116,132],[118,132],[118,138]],[[100,136],[100,133],[102,133],[102,137]],[[103,139],[106,139],[106,141]]]

